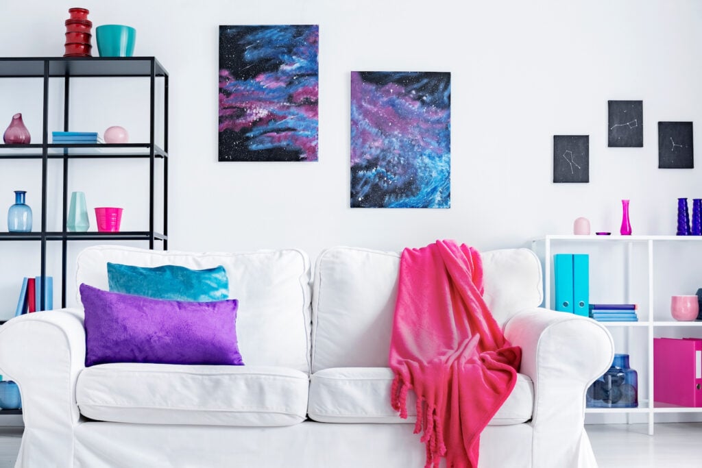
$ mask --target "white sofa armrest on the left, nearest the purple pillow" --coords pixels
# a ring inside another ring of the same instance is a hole
[[[72,466],[80,413],[76,380],[85,366],[83,312],[60,309],[15,317],[0,327],[0,369],[17,382],[25,435],[18,466]],[[24,449],[32,446],[31,453]]]

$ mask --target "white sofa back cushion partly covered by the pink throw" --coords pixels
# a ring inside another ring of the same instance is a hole
[[[313,373],[388,366],[399,258],[395,252],[349,247],[319,255],[312,296]],[[484,299],[501,326],[519,310],[541,304],[541,262],[531,250],[491,250],[482,260]]]

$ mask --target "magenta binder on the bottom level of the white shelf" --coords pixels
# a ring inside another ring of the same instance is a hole
[[[702,407],[702,339],[654,338],[654,401]]]

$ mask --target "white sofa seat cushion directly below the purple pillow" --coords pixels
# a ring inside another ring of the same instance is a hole
[[[81,371],[76,400],[100,421],[289,426],[305,420],[308,387],[291,368],[110,363]]]

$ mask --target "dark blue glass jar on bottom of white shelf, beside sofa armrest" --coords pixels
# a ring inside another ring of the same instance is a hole
[[[629,368],[628,354],[615,354],[611,367],[588,389],[588,408],[637,408],[638,374]]]

